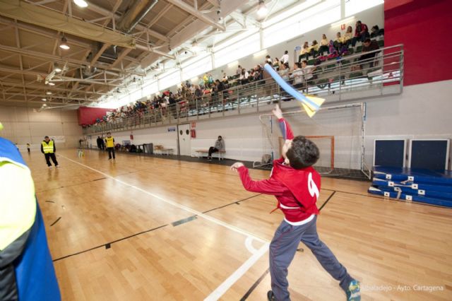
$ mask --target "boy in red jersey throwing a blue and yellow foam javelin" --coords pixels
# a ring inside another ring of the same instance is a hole
[[[321,177],[312,167],[319,160],[319,148],[304,136],[292,133],[290,125],[283,118],[283,112],[276,105],[273,114],[278,118],[285,143],[282,157],[273,161],[270,179],[253,181],[243,163],[234,163],[231,170],[239,172],[244,188],[262,194],[273,194],[278,199],[278,208],[284,213],[284,220],[270,243],[271,289],[268,300],[290,300],[287,268],[297,252],[299,242],[311,249],[321,266],[339,282],[347,300],[359,301],[359,282],[340,264],[333,252],[324,244],[317,233],[316,221],[319,209]]]

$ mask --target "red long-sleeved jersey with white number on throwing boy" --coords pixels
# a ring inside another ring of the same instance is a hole
[[[292,129],[285,119],[280,119],[283,136],[294,138]],[[273,161],[270,179],[253,181],[249,177],[248,169],[244,166],[238,169],[244,188],[248,191],[262,194],[272,194],[278,200],[278,207],[283,211],[285,220],[297,223],[319,214],[316,201],[319,198],[321,177],[313,167],[295,170],[284,164],[284,158]]]

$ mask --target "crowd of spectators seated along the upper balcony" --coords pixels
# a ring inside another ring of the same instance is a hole
[[[320,64],[321,61],[347,54],[349,47],[355,47],[357,42],[362,42],[362,52],[379,49],[376,41],[370,40],[369,37],[378,37],[383,34],[383,29],[380,29],[378,25],[372,27],[371,33],[369,33],[367,25],[358,20],[355,24],[355,33],[353,33],[352,26],[348,26],[344,35],[341,35],[340,32],[336,34],[335,40],[328,40],[328,37],[323,34],[320,43],[316,40],[313,40],[311,45],[309,45],[309,42],[304,42],[299,52],[298,62],[294,64],[292,70],[290,69],[290,57],[287,50],[280,58],[272,59],[270,55],[267,55],[263,64],[270,64],[286,81],[290,81],[296,88],[302,89],[304,85],[309,85],[315,79],[314,71],[316,65]],[[375,52],[364,53],[357,61],[369,59],[374,57],[375,54]],[[314,59],[314,64],[308,64],[310,57]],[[136,119],[136,122],[140,122],[147,112],[155,112],[155,110],[160,112],[162,119],[165,119],[168,114],[184,116],[189,110],[196,108],[196,105],[198,106],[197,109],[208,106],[208,100],[221,99],[223,102],[227,102],[229,100],[229,89],[232,86],[246,85],[252,82],[265,83],[266,76],[263,72],[263,64],[258,64],[251,69],[239,65],[234,75],[227,76],[226,73],[223,73],[222,78],[217,79],[214,79],[211,73],[205,73],[199,77],[198,83],[186,81],[181,83],[176,93],[166,90],[145,101],[141,100],[133,105],[124,105],[107,113],[104,117],[98,118],[95,124],[122,121],[131,119],[130,117]],[[207,102],[203,102],[203,100],[207,100]]]

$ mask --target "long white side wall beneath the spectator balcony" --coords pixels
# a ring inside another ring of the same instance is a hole
[[[451,112],[452,81],[410,85],[401,95],[368,99],[366,120],[366,162],[371,165],[374,138],[452,138]],[[294,107],[294,102],[283,103]],[[270,107],[267,107],[267,112]],[[263,112],[259,113],[263,114]],[[336,167],[359,167],[359,122],[357,110],[342,110],[317,114],[308,119],[304,114],[287,117],[297,134],[335,136]],[[162,126],[133,131],[133,143],[162,144],[177,151],[177,133]],[[279,134],[278,127],[274,127]],[[114,133],[117,141],[130,140],[131,131]],[[192,155],[197,149],[213,146],[218,135],[225,139],[226,158],[235,160],[260,160],[264,148],[269,148],[268,138],[259,122],[258,114],[239,115],[222,119],[196,121],[196,138],[191,139]],[[276,134],[275,134],[276,136]],[[93,136],[93,146],[95,146]],[[319,143],[326,143],[325,140]],[[278,155],[278,141],[275,141]],[[329,147],[329,144],[325,146]],[[325,153],[328,156],[328,153]],[[329,160],[329,158],[327,158]],[[325,160],[324,160],[325,161]],[[326,163],[327,164],[327,163]]]

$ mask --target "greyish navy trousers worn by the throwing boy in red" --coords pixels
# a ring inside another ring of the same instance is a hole
[[[287,268],[294,259],[299,242],[303,242],[311,249],[317,260],[328,273],[340,281],[340,287],[346,291],[350,282],[354,280],[347,269],[340,264],[333,252],[324,244],[317,234],[317,216],[309,223],[294,226],[285,220],[275,232],[270,244],[270,276],[271,289],[276,300],[290,300],[289,283],[287,282]]]

